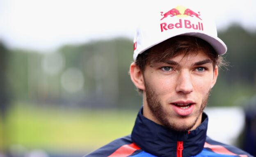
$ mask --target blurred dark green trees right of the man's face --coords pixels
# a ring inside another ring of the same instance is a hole
[[[209,99],[210,106],[242,105],[242,98],[256,93],[255,44],[256,32],[249,32],[233,24],[218,33],[228,47],[224,55],[230,63],[228,70],[219,71],[217,84]]]

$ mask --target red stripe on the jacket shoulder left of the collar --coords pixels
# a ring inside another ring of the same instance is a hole
[[[126,144],[118,148],[116,151],[114,151],[114,153],[112,153],[108,157],[127,157],[139,149],[140,148],[134,143]]]

